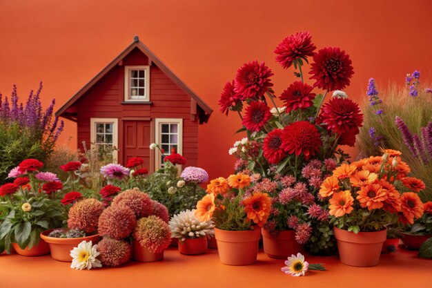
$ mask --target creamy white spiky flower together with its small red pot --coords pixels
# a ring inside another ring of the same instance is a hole
[[[168,224],[171,237],[179,240],[179,252],[186,255],[206,253],[207,240],[215,233],[213,221],[199,221],[195,210],[181,211],[174,215]]]

